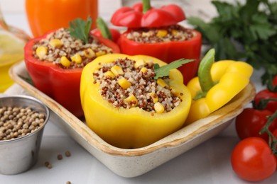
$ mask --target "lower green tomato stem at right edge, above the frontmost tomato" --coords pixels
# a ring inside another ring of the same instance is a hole
[[[268,145],[270,146],[272,153],[277,156],[277,149],[276,149],[277,139],[276,139],[276,137],[274,137],[272,132],[268,129],[268,127],[271,125],[273,120],[275,120],[276,118],[277,118],[277,110],[275,111],[275,113],[273,113],[273,115],[268,116],[266,125],[264,125],[264,127],[261,128],[261,131],[259,133],[260,134],[264,134],[264,133],[268,134],[268,136],[269,136]]]

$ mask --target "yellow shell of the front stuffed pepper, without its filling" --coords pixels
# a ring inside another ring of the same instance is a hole
[[[180,105],[167,113],[149,113],[139,107],[114,108],[112,103],[102,98],[99,83],[94,82],[92,73],[102,64],[116,59],[153,61],[164,65],[159,59],[144,55],[109,54],[94,59],[82,71],[80,97],[87,126],[104,141],[120,148],[130,149],[147,146],[183,127],[191,105],[188,88],[183,84],[183,76],[177,69],[170,70],[169,86],[182,99]]]

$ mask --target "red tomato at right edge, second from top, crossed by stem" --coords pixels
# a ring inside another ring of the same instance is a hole
[[[268,98],[277,98],[277,92],[264,89],[262,91],[259,91],[259,93],[256,93],[254,101],[256,105],[258,105],[261,99],[268,99]],[[266,105],[266,109],[271,110],[271,112],[274,113],[277,110],[277,101],[273,101],[273,100],[269,101],[268,104]]]

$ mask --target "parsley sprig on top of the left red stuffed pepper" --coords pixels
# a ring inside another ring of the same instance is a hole
[[[70,22],[70,28],[68,28],[70,35],[72,37],[82,40],[87,43],[89,40],[89,30],[92,25],[92,19],[87,18],[87,21],[81,18],[76,18],[74,21]]]

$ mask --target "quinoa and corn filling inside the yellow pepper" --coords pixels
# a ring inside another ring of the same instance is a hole
[[[154,79],[153,62],[116,59],[94,71],[99,93],[115,108],[139,107],[152,113],[166,113],[182,101],[168,86],[168,76]],[[183,96],[183,93],[178,94]]]

